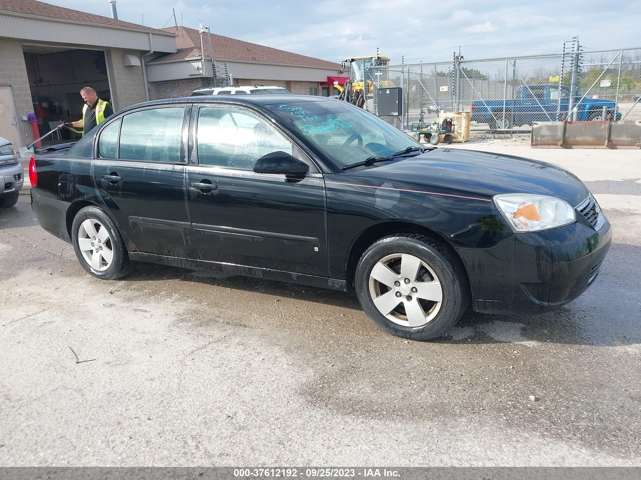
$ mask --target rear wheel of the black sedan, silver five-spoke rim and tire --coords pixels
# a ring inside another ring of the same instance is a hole
[[[134,262],[112,219],[93,205],[81,209],[71,226],[72,243],[82,268],[96,278],[115,280],[129,275]]]

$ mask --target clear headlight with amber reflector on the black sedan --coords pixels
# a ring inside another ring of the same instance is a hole
[[[574,207],[555,196],[506,193],[495,195],[494,203],[515,232],[540,232],[576,221]]]

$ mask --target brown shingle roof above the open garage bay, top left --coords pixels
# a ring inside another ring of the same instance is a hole
[[[106,2],[104,8],[105,10],[108,8]],[[169,31],[162,31],[135,23],[123,22],[122,20],[115,20],[110,17],[94,15],[93,13],[79,12],[78,10],[72,10],[71,8],[64,8],[62,6],[51,5],[49,3],[38,2],[36,0],[0,0],[0,12],[2,10],[6,12],[24,13],[25,15],[33,15],[34,17],[51,17],[53,19],[88,22],[92,24],[103,24],[105,26],[150,31],[160,35],[169,35],[169,33],[171,33]]]

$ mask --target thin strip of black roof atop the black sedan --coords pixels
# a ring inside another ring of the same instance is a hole
[[[229,102],[233,104],[244,104],[251,106],[267,106],[280,103],[294,104],[301,102],[342,102],[342,100],[331,99],[329,97],[320,97],[320,95],[279,95],[274,93],[267,93],[265,95],[247,94],[247,95],[197,95],[196,97],[181,97],[178,99],[165,99],[153,100],[151,102],[143,102],[131,105],[122,109],[118,113],[133,110],[143,106],[154,105],[171,105],[174,103],[207,103],[207,102]]]

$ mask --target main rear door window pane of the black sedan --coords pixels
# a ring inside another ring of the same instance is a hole
[[[119,158],[179,163],[185,107],[153,108],[122,117]]]

